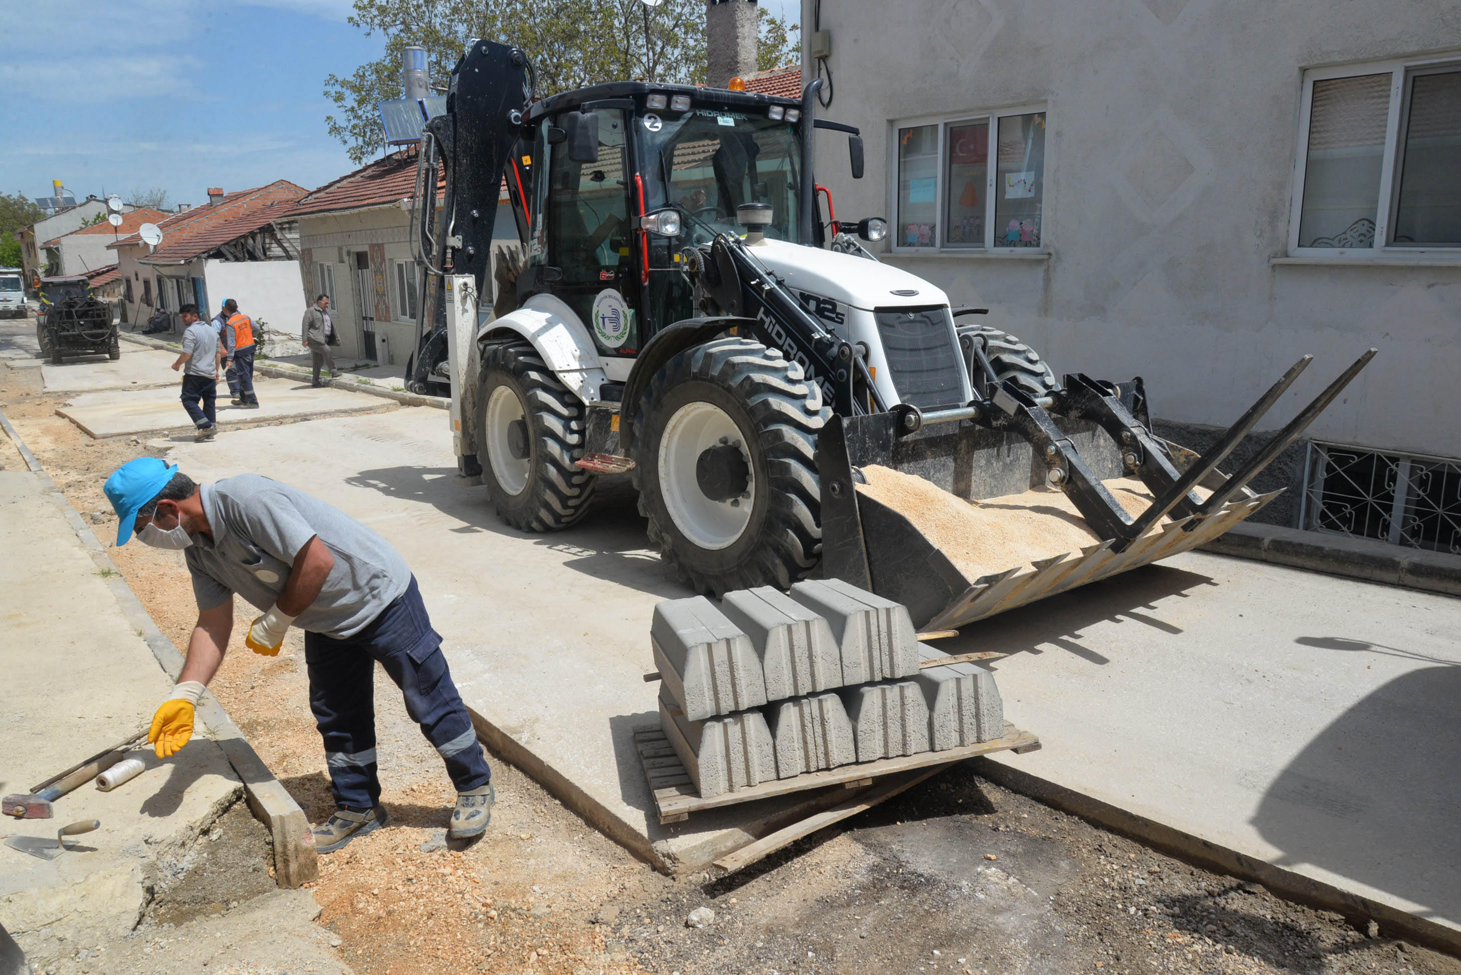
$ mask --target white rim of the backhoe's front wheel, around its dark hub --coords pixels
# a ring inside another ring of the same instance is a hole
[[[700,454],[722,442],[741,445],[745,457],[745,433],[735,420],[712,403],[687,403],[675,410],[659,441],[659,493],[675,527],[693,544],[706,550],[728,549],[745,533],[755,506],[755,469],[751,469],[745,496],[732,501],[712,501],[695,480]],[[747,467],[751,458],[747,457]]]

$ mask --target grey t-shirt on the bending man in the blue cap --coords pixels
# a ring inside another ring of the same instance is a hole
[[[200,610],[237,593],[260,610],[283,593],[294,556],[313,539],[335,568],[294,622],[337,639],[354,636],[411,585],[411,568],[389,542],[355,518],[302,490],[259,474],[225,477],[199,489],[213,540],[193,536],[187,568]]]

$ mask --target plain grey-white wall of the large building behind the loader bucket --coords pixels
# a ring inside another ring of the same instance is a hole
[[[818,133],[817,181],[843,219],[894,220],[896,120],[1048,109],[1048,254],[880,257],[989,307],[1058,374],[1144,377],[1153,415],[1176,422],[1226,426],[1313,353],[1271,429],[1378,346],[1311,433],[1461,455],[1461,254],[1280,260],[1303,70],[1461,48],[1452,3],[846,0],[821,26],[836,93],[820,115],[866,137],[853,181],[846,136]]]

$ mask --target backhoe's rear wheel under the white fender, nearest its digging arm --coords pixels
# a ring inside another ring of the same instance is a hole
[[[593,474],[583,457],[583,404],[526,342],[482,361],[476,397],[478,460],[498,517],[523,531],[557,531],[589,511]]]

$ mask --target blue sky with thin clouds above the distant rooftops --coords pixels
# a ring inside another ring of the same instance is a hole
[[[79,197],[164,187],[197,204],[210,185],[329,182],[354,163],[324,130],[324,79],[381,48],[349,12],[349,0],[0,3],[0,191],[48,196],[63,180]]]

